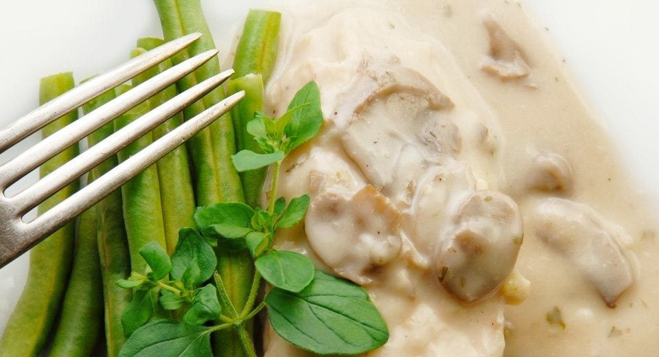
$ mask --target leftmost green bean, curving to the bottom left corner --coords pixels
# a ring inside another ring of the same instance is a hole
[[[43,78],[39,101],[41,104],[48,102],[74,86],[71,73],[60,73]],[[77,118],[78,111],[64,115],[43,128],[43,137],[51,135]],[[41,165],[40,176],[49,174],[73,159],[78,152],[77,143],[60,152]],[[78,181],[67,185],[39,205],[38,212],[43,213],[54,207],[78,188]],[[37,356],[41,353],[64,295],[71,270],[75,238],[75,222],[69,222],[30,251],[27,283],[0,339],[0,356]]]

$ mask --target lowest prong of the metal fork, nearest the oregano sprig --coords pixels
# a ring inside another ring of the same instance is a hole
[[[46,238],[73,217],[80,215],[94,203],[113,192],[136,174],[148,168],[167,152],[209,126],[213,120],[227,113],[229,109],[244,97],[244,91],[235,93],[218,104],[211,106],[196,117],[189,119],[167,135],[154,141],[137,154],[117,165],[113,170],[100,176],[95,181],[80,189],[80,191],[63,200],[61,203],[45,211],[32,222],[16,222],[16,240],[3,242],[10,249],[0,249],[0,267],[16,259],[32,246]]]

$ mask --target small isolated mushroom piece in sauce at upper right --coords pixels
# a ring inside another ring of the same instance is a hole
[[[481,64],[481,69],[502,80],[523,78],[531,74],[531,67],[522,56],[515,41],[506,34],[492,15],[485,16],[483,24],[489,35],[489,56]]]

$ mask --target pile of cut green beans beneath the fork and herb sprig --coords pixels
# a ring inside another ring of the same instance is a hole
[[[191,32],[203,37],[185,51],[157,67],[133,78],[132,85],[164,71],[191,56],[215,47],[199,0],[154,0],[161,19],[163,39],[141,38],[132,51],[136,56],[163,41]],[[167,154],[121,189],[113,192],[84,212],[30,252],[28,280],[10,321],[0,339],[0,357],[39,356],[117,356],[126,341],[122,312],[130,303],[130,289],[115,284],[131,271],[143,272],[146,263],[138,251],[144,244],[156,241],[168,253],[174,251],[178,230],[195,227],[193,215],[198,206],[221,201],[243,202],[259,206],[266,170],[239,175],[233,168],[231,155],[237,150],[257,150],[245,126],[257,111],[264,111],[264,85],[272,72],[277,52],[280,15],[277,12],[251,10],[236,51],[234,80],[227,91],[244,90],[246,97],[231,113],[220,117],[209,128],[190,139],[185,146]],[[220,73],[218,58],[213,58],[194,73],[164,89],[124,113],[115,121],[96,130],[87,138],[87,146],[119,130],[159,106],[179,91]],[[73,88],[71,73],[43,78],[41,104]],[[122,84],[82,106],[89,113],[117,95],[130,89]],[[87,177],[87,182],[108,172],[130,155],[148,146],[152,140],[170,132],[184,120],[224,98],[224,88],[211,91],[183,113],[174,115],[126,148],[120,150]],[[43,129],[43,136],[77,119],[73,111]],[[78,146],[58,154],[45,163],[41,176],[66,163],[79,152]],[[39,207],[43,212],[76,192],[74,182],[49,198]],[[218,273],[235,308],[242,310],[254,277],[254,265],[246,249],[218,246]],[[168,317],[164,311],[154,319]],[[253,333],[252,324],[246,326]],[[50,338],[50,339],[49,339]],[[233,329],[213,335],[216,356],[244,356]]]

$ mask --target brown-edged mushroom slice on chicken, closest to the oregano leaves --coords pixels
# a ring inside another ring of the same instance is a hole
[[[369,270],[400,253],[400,211],[391,200],[367,185],[354,196],[322,192],[305,216],[310,246],[335,273],[367,284]]]

